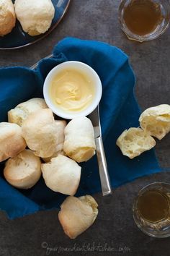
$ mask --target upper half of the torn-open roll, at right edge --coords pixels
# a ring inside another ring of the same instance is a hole
[[[152,108],[147,108],[139,118],[140,127],[150,135],[161,140],[170,132],[170,106],[162,104]]]

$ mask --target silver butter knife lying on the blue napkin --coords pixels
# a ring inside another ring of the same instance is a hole
[[[102,142],[102,131],[100,126],[99,119],[99,105],[94,111],[89,114],[89,119],[91,120],[94,127],[94,138],[96,142],[97,148],[97,161],[99,165],[99,176],[102,187],[102,195],[110,195],[112,194],[112,189],[109,181],[109,173],[107,171],[107,161],[104,153],[104,146]]]

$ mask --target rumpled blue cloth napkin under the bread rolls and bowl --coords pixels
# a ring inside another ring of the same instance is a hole
[[[100,114],[112,187],[161,171],[153,150],[130,160],[122,155],[115,144],[124,129],[139,126],[140,109],[133,93],[135,76],[128,56],[107,43],[65,38],[55,46],[53,58],[42,59],[36,70],[25,67],[0,69],[0,121],[6,121],[7,111],[18,103],[42,97],[43,81],[50,69],[70,60],[89,64],[102,80]],[[76,196],[100,192],[96,156],[81,166],[81,183]],[[0,163],[0,168],[0,208],[6,211],[9,218],[21,217],[38,210],[58,208],[66,197],[48,189],[42,178],[32,189],[15,189],[4,179],[4,163]]]

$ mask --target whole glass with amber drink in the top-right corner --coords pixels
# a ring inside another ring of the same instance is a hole
[[[152,40],[169,27],[168,0],[122,0],[119,8],[121,28],[131,40]]]

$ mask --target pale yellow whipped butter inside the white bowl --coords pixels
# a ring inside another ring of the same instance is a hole
[[[64,111],[82,111],[94,98],[94,85],[88,74],[67,68],[55,75],[50,84],[50,98]]]

